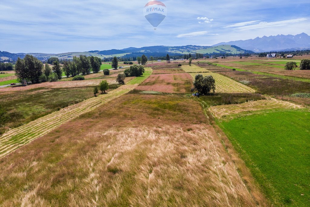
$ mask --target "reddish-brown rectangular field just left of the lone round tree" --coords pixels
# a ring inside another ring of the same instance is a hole
[[[187,73],[151,75],[136,89],[165,93],[186,93],[192,88],[192,77]]]

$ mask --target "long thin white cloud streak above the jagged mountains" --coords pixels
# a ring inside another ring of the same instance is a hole
[[[242,27],[237,27],[236,29],[239,29],[240,31],[245,31],[245,30],[250,30],[250,29],[261,29],[261,28],[267,28],[267,27],[280,27],[280,26],[295,24],[301,21],[306,21],[306,20],[307,20],[306,18],[300,18],[300,19],[284,20],[284,21],[276,21],[276,22],[259,22],[259,24],[256,24],[256,25],[242,26]]]

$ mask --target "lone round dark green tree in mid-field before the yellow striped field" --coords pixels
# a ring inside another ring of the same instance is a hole
[[[201,94],[208,94],[210,91],[215,92],[215,79],[209,75],[203,77],[201,74],[196,75],[192,91],[198,91]]]

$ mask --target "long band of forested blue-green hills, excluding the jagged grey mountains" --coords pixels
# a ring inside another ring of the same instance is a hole
[[[100,58],[108,57],[137,57],[145,54],[146,56],[161,57],[169,55],[184,55],[184,54],[194,54],[202,53],[205,55],[216,55],[216,54],[240,54],[240,53],[253,53],[250,50],[244,50],[240,47],[234,45],[218,45],[214,47],[210,46],[197,46],[197,45],[186,45],[186,46],[150,46],[150,47],[128,47],[125,49],[117,50],[93,50],[88,52],[66,52],[60,54],[46,54],[46,53],[28,53],[37,57],[40,60],[47,60],[50,57],[57,57],[59,59],[72,59],[73,56],[97,56]],[[1,55],[2,54],[2,55]],[[9,53],[9,52],[0,52],[0,57],[17,60],[18,57],[24,57],[26,53]]]

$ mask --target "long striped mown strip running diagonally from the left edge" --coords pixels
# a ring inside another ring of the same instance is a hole
[[[82,101],[81,103],[68,106],[59,111],[36,119],[28,124],[12,129],[0,136],[0,158],[15,151],[19,147],[28,144],[34,139],[41,137],[53,129],[59,127],[79,115],[87,113],[95,108],[122,96],[133,90],[138,84],[142,83],[151,75],[152,69],[145,68],[145,73],[141,77],[131,80],[131,83],[123,85],[107,94],[99,95]]]

